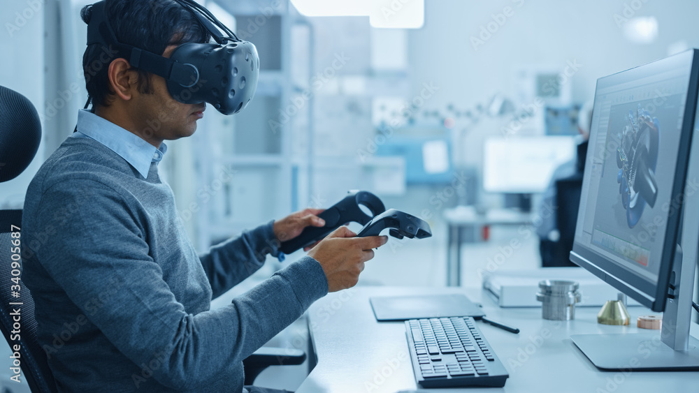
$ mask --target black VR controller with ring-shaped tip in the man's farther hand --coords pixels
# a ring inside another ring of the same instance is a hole
[[[369,216],[363,212],[359,205],[366,206],[370,210],[371,215]],[[301,235],[287,242],[282,242],[279,251],[290,254],[305,246],[310,246],[346,223],[354,222],[366,225],[374,216],[383,213],[385,210],[384,203],[373,193],[349,191],[345,199],[340,200],[340,202],[318,214],[325,221],[324,226],[306,227],[301,232]]]

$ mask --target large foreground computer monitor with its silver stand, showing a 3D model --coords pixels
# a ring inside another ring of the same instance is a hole
[[[689,334],[699,244],[699,51],[600,78],[570,260],[663,327],[571,339],[600,369],[699,370]]]

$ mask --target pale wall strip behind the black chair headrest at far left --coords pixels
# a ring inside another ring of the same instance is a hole
[[[0,85],[20,92],[39,109],[44,101],[43,9],[47,0],[2,1]],[[0,114],[5,116],[6,114]],[[43,143],[22,175],[0,184],[0,209],[21,208],[29,181],[43,163]]]

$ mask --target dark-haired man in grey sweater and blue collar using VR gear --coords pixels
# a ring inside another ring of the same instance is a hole
[[[117,39],[168,57],[209,37],[173,0],[108,0]],[[91,8],[83,8],[87,23]],[[270,279],[210,310],[212,297],[250,276],[280,239],[323,225],[307,209],[197,255],[160,181],[164,140],[192,135],[204,104],[175,101],[162,77],[103,47],[85,51],[94,113],[42,165],[22,220],[24,272],[38,339],[59,391],[245,392],[245,357],[316,299],[356,284],[387,237],[343,227]],[[161,126],[149,127],[152,119]]]

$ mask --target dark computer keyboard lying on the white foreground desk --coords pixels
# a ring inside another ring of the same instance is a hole
[[[510,376],[471,317],[405,321],[421,387],[503,387]]]

